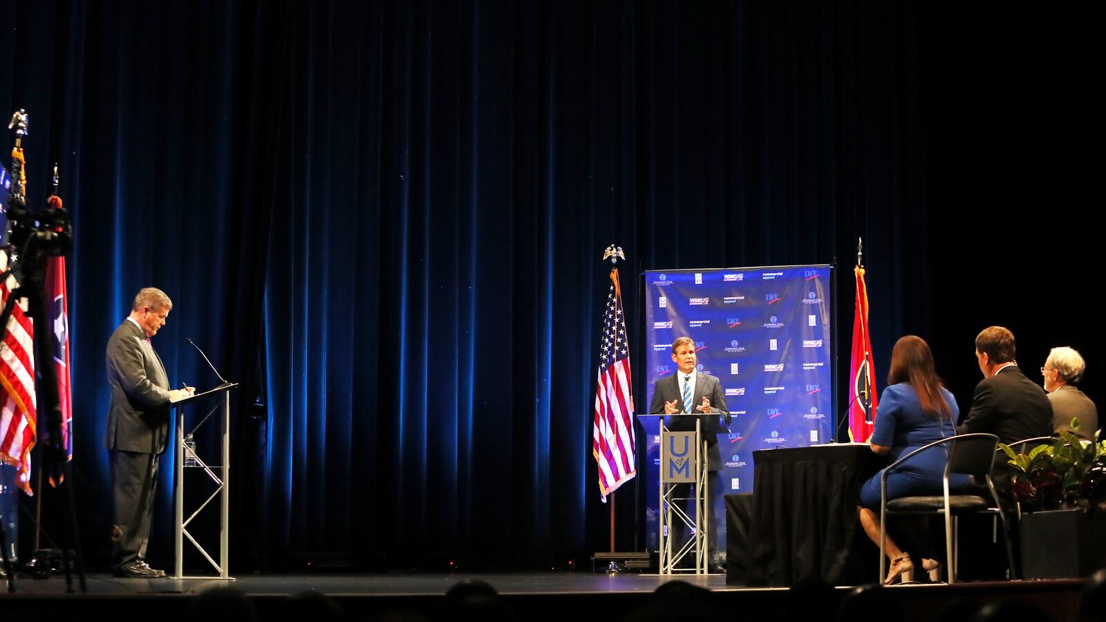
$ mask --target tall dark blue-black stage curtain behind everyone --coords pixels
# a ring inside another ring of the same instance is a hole
[[[148,284],[175,302],[170,379],[217,383],[191,336],[242,383],[233,572],[605,550],[608,243],[638,334],[643,269],[836,261],[844,395],[863,237],[877,374],[922,335],[967,407],[972,339],[999,323],[1030,377],[1081,349],[1097,396],[1089,22],[1009,2],[0,2],[32,203],[58,162],[74,211],[90,560],[111,525],[104,346]],[[651,493],[617,493],[619,550],[644,548]]]

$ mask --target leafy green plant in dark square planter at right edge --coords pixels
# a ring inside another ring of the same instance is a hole
[[[1078,431],[1078,421],[1072,428]],[[1009,458],[1021,518],[1022,576],[1088,577],[1106,563],[1106,442],[1062,432],[1050,443]]]

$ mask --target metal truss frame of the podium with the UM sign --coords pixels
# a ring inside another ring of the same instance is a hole
[[[702,439],[702,418],[699,415],[653,415],[659,418],[658,427],[660,433],[660,473],[657,478],[659,481],[659,495],[657,498],[657,510],[660,517],[660,527],[658,529],[659,535],[659,549],[660,549],[660,574],[661,576],[672,576],[672,574],[709,574],[708,570],[708,548],[707,548],[707,532],[710,527],[710,514],[708,512],[707,504],[710,499],[705,494],[707,490],[707,478],[710,476],[707,471],[707,443]],[[675,491],[677,486],[686,483],[669,483],[667,471],[665,470],[665,457],[668,453],[668,439],[670,438],[670,432],[665,427],[665,416],[693,416],[695,422],[695,440],[693,446],[696,448],[695,459],[692,460],[695,481],[690,483],[689,489],[693,490],[690,497],[675,497]],[[688,515],[687,511],[676,501],[679,500],[693,500],[695,501],[695,518]],[[678,543],[679,549],[672,552],[672,537],[671,537],[671,525],[672,515],[684,522],[688,528],[690,538],[686,542]],[[703,518],[708,517],[708,518]],[[701,523],[701,529],[699,528]],[[695,568],[676,568],[685,557],[689,553],[695,556]]]

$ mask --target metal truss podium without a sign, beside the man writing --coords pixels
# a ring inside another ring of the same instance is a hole
[[[173,578],[174,579],[227,579],[233,580],[228,571],[228,560],[230,551],[230,537],[228,532],[228,523],[230,519],[230,390],[238,386],[238,383],[223,383],[219,386],[205,391],[202,393],[197,393],[184,400],[177,400],[173,402],[173,407],[177,410],[177,434],[176,434],[176,452],[174,460],[174,481],[176,483],[176,493],[174,495],[174,553],[176,557],[176,564],[174,566]],[[217,400],[217,405],[208,412],[207,416],[200,419],[200,423],[196,424],[187,435],[185,435],[185,406],[191,406],[199,404],[201,402],[207,402],[209,400]],[[208,418],[216,412],[219,412],[218,419],[222,422],[222,434],[221,438],[221,456],[219,458],[220,464],[208,465],[196,454],[195,443],[186,444],[185,439],[191,439],[192,435],[201,425],[204,425]],[[216,484],[215,493],[211,494],[198,508],[196,508],[187,519],[185,519],[185,468],[201,468],[204,473],[211,478]],[[219,497],[219,562],[216,563],[211,556],[204,549],[202,546],[188,532],[188,525],[195,519],[200,511],[202,511],[207,506]],[[204,559],[215,568],[216,572],[219,573],[218,577],[185,577],[184,566],[185,566],[185,538],[196,547],[196,550],[204,556]]]

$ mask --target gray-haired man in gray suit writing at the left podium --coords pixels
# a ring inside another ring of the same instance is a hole
[[[165,365],[149,342],[165,325],[170,309],[173,301],[164,291],[143,289],[131,315],[107,342],[112,402],[104,445],[112,467],[112,570],[116,577],[165,577],[145,560],[157,463],[169,436],[170,404],[192,393],[190,387],[169,390]]]

